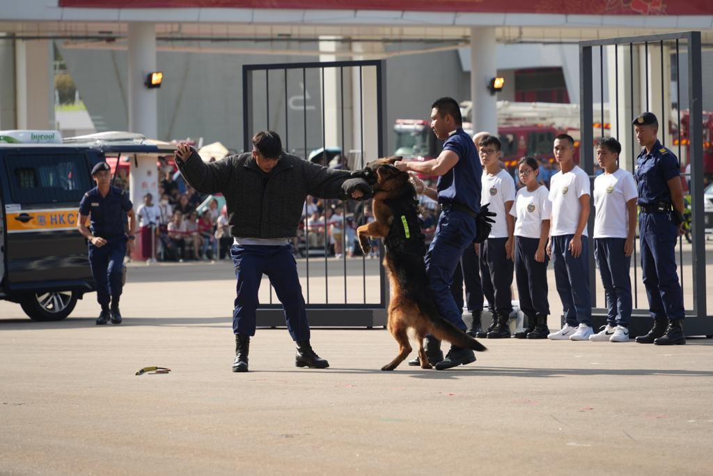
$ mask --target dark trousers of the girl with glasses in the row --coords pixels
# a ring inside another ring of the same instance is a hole
[[[515,236],[515,282],[518,283],[520,310],[528,319],[550,314],[547,298],[547,265],[550,259],[545,253],[543,263],[535,261],[539,244],[540,238]]]

